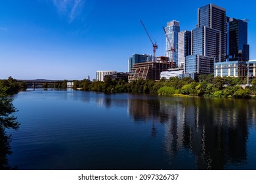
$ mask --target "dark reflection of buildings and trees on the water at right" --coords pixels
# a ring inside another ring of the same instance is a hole
[[[255,102],[244,100],[166,98],[129,100],[133,120],[165,125],[165,152],[173,161],[179,151],[192,152],[197,169],[225,169],[247,161],[248,125]],[[186,169],[186,167],[184,167]]]

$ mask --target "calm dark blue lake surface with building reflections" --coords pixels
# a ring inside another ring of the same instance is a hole
[[[20,92],[18,169],[256,169],[256,100]]]

